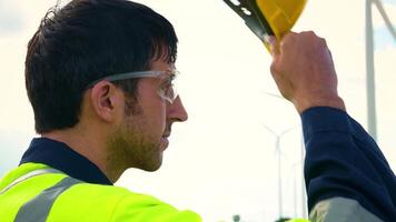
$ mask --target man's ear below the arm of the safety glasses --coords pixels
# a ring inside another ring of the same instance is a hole
[[[101,81],[95,84],[89,94],[92,111],[106,122],[113,122],[122,113],[123,94],[115,84]]]

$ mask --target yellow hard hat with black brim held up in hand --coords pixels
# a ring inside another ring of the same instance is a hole
[[[307,0],[224,0],[266,44],[266,37],[278,40],[290,31]]]

